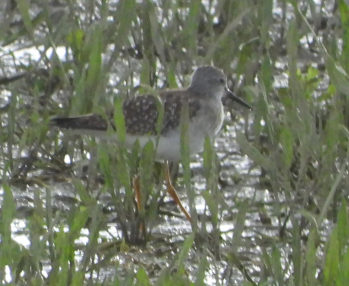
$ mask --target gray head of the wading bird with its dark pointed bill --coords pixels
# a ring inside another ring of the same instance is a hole
[[[206,99],[219,99],[228,95],[233,101],[236,101],[248,109],[252,109],[250,105],[237,97],[227,86],[227,76],[221,69],[213,66],[202,66],[196,69],[192,75],[192,81],[188,90],[200,94]]]

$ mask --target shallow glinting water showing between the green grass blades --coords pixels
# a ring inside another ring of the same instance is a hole
[[[328,5],[331,5],[331,1],[328,1]],[[281,5],[277,1],[274,1],[273,13],[275,17],[282,16],[282,10],[280,10]],[[288,9],[292,10],[290,6]],[[292,13],[287,14],[287,17],[291,17]],[[274,26],[274,31],[271,31],[272,35],[276,37],[279,33],[279,27]],[[303,48],[307,50],[306,42],[303,41]],[[7,47],[12,49],[11,46]],[[17,49],[14,47],[13,49]],[[59,51],[60,47],[58,47]],[[47,52],[47,54],[52,54],[52,51]],[[112,53],[112,51],[111,51]],[[313,57],[309,53],[303,53],[303,62],[300,62],[301,66],[305,66],[309,60],[312,64],[320,64],[321,60],[317,57]],[[22,59],[22,64],[29,64],[30,61],[35,61],[39,58],[40,53],[33,46],[26,47],[24,50],[18,50],[16,57]],[[62,60],[65,60],[69,55],[65,54],[63,50],[61,53],[58,52],[58,56]],[[104,55],[105,59],[110,55]],[[13,68],[13,58],[8,57],[3,58],[3,63],[8,63],[7,71],[15,72]],[[285,73],[287,68],[287,59],[280,56],[275,64],[275,75],[274,75],[274,88],[283,88],[288,86],[288,75]],[[119,83],[122,79],[122,72],[128,69],[136,71],[136,74],[140,74],[141,66],[136,61],[131,61],[129,66],[125,66],[124,60],[116,60],[114,63],[114,70],[119,71],[119,74],[112,74],[110,76],[111,83]],[[127,73],[127,72],[125,72]],[[121,75],[120,75],[121,74]],[[161,80],[159,80],[161,82]],[[132,85],[137,85],[139,78],[136,76],[133,78]],[[181,82],[179,82],[180,84]],[[327,87],[326,78],[324,79],[324,87]],[[122,87],[115,87],[113,90],[116,93],[120,93],[124,90]],[[9,90],[3,89],[0,96],[0,107],[3,108],[10,103],[11,92]],[[64,101],[65,96],[62,94],[54,94],[54,100],[59,98]],[[18,104],[32,104],[35,102],[30,96],[23,95],[23,102]],[[233,112],[235,113],[235,112]],[[236,131],[241,131],[245,129],[246,120],[248,122],[248,127],[251,128],[252,116],[250,118],[244,118],[242,114],[246,112],[238,112],[237,118],[235,116],[230,116],[227,113],[225,118],[226,128],[222,130],[215,141],[215,147],[217,155],[221,162],[220,178],[224,182],[222,185],[221,192],[225,198],[225,206],[222,207],[223,211],[220,219],[220,231],[222,232],[222,240],[220,241],[221,256],[223,259],[216,259],[213,255],[205,251],[199,251],[198,249],[191,249],[188,259],[186,261],[186,269],[190,277],[195,277],[195,273],[198,271],[198,262],[202,256],[209,257],[210,266],[209,271],[206,272],[206,283],[209,285],[215,285],[218,281],[229,281],[230,285],[240,284],[244,280],[243,274],[234,265],[229,262],[229,259],[225,259],[233,251],[239,256],[240,261],[245,263],[246,269],[249,271],[251,277],[258,281],[259,272],[262,270],[263,265],[261,265],[260,256],[263,249],[269,249],[271,242],[275,242],[276,237],[279,236],[280,226],[282,221],[276,215],[274,210],[274,199],[275,194],[273,190],[269,188],[263,177],[262,170],[254,166],[254,163],[249,160],[246,156],[243,156],[239,152],[239,146],[236,143]],[[1,115],[1,121],[5,124],[10,119],[7,115]],[[231,117],[235,118],[231,120]],[[28,118],[19,118],[19,120],[27,120]],[[249,120],[249,121],[248,121]],[[263,124],[261,122],[261,124]],[[249,136],[251,134],[248,134]],[[30,154],[30,150],[26,148],[20,148],[20,146],[3,145],[7,146],[8,149],[4,153],[9,151],[9,146],[11,149],[11,154],[15,158],[27,157]],[[89,154],[81,154],[78,150],[74,152],[73,160],[76,165],[83,166],[86,164],[86,157]],[[67,158],[68,160],[68,158]],[[70,160],[70,159],[69,159]],[[79,163],[80,162],[80,163]],[[1,170],[4,169],[6,161],[0,161]],[[68,163],[68,162],[66,162]],[[81,169],[81,168],[80,168]],[[79,168],[75,171],[75,176],[80,177],[82,171]],[[200,193],[206,188],[206,181],[203,177],[202,168],[202,157],[200,155],[195,155],[191,160],[191,170],[192,170],[192,186],[194,189],[195,197],[195,207],[198,214],[203,216],[207,214],[206,203]],[[68,172],[67,172],[68,173]],[[7,174],[1,174],[6,176]],[[181,175],[181,173],[180,173]],[[79,198],[74,189],[72,182],[66,179],[59,180],[56,176],[53,176],[46,170],[38,168],[35,171],[31,171],[28,174],[28,178],[34,178],[35,176],[46,176],[48,179],[45,181],[46,188],[40,187],[35,182],[23,183],[18,182],[17,184],[11,185],[11,190],[16,201],[16,219],[12,222],[12,238],[19,244],[26,248],[29,248],[29,228],[28,228],[28,218],[33,213],[37,202],[35,202],[35,194],[40,198],[41,205],[47,207],[47,190],[50,190],[51,205],[55,211],[55,214],[62,215],[69,212],[69,210],[79,201]],[[63,174],[62,177],[67,178],[68,174]],[[186,191],[183,189],[183,184],[179,179],[179,184],[177,185],[177,192],[181,198],[185,207],[187,206]],[[98,190],[96,190],[98,193]],[[0,190],[0,196],[2,201],[3,190]],[[277,200],[280,204],[285,203],[286,199],[284,194],[279,194]],[[99,204],[105,206],[106,210],[112,210],[110,206],[110,195],[103,193],[99,197]],[[248,210],[243,221],[244,228],[242,230],[241,237],[236,238],[234,236],[237,227],[237,216],[241,205],[246,204]],[[156,220],[152,222],[152,225],[148,225],[151,228],[152,239],[149,240],[146,247],[131,247],[128,252],[118,253],[113,256],[105,267],[102,267],[99,273],[92,273],[92,277],[99,279],[100,281],[104,278],[111,277],[113,273],[117,272],[120,277],[125,277],[129,269],[134,269],[130,265],[142,265],[147,272],[149,277],[154,279],[157,273],[164,267],[169,267],[171,260],[174,255],[178,253],[183,244],[185,238],[192,232],[190,223],[183,217],[183,215],[177,212],[176,209],[171,209],[171,204],[162,206],[164,210],[170,210],[171,212],[177,213],[179,217],[168,217],[165,215],[159,216]],[[112,242],[113,240],[120,240],[122,238],[121,230],[116,222],[115,213],[112,211],[106,213],[109,220],[108,229],[100,232],[99,243],[103,247],[106,242]],[[211,226],[207,224],[209,229]],[[291,223],[288,222],[287,228],[291,228]],[[323,226],[324,236],[328,235],[328,230],[331,229],[331,223]],[[57,229],[58,231],[58,229]],[[83,247],[88,243],[88,229],[84,228],[81,232],[79,239],[75,242],[80,247],[75,251],[75,261],[79,264],[83,257]],[[235,240],[239,239],[239,248],[236,249]],[[282,244],[282,255],[288,257],[291,254],[292,249],[287,243]],[[97,259],[97,258],[96,258]],[[118,265],[116,267],[116,265]],[[50,271],[51,265],[49,261],[43,261],[43,274],[47,276]],[[87,276],[90,274],[86,274]]]

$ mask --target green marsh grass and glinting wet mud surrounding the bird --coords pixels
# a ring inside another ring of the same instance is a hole
[[[1,284],[347,285],[346,1],[0,7]],[[152,148],[48,126],[212,64],[254,110],[225,102],[214,146],[183,158],[192,225],[163,203]]]

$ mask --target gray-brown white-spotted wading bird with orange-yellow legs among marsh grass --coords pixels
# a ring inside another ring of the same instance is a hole
[[[188,142],[190,154],[203,151],[205,138],[214,139],[223,125],[224,111],[222,98],[228,96],[233,101],[252,110],[252,107],[236,96],[227,86],[227,76],[214,66],[200,66],[191,76],[186,89],[172,89],[153,94],[128,98],[122,103],[125,119],[125,147],[131,149],[138,140],[142,148],[149,140],[156,146],[156,160],[165,162],[168,193],[183,211],[189,221],[191,217],[179,200],[170,181],[168,162],[180,161],[181,116],[186,107],[188,122]],[[158,126],[159,99],[163,106],[162,125]],[[90,135],[106,140],[118,140],[114,114],[106,116],[88,114],[76,117],[53,117],[50,125],[72,130],[76,134]],[[156,142],[156,145],[155,145]],[[138,188],[137,188],[138,189]],[[137,203],[140,190],[136,191]]]

